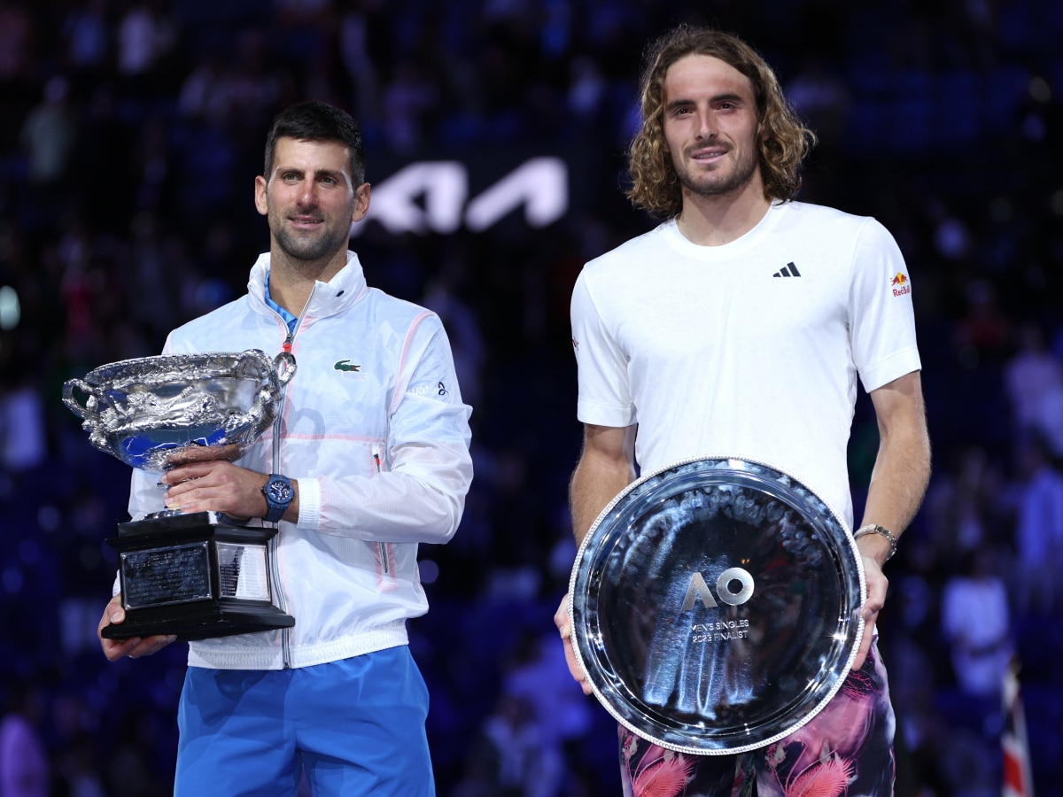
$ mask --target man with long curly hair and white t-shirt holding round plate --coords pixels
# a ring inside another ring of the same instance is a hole
[[[585,424],[570,491],[577,541],[637,468],[721,455],[792,474],[851,528],[846,445],[858,378],[881,440],[855,535],[865,631],[836,697],[799,730],[740,754],[663,750],[622,728],[625,786],[639,793],[668,770],[688,794],[892,794],[894,717],[875,618],[882,565],[930,468],[908,269],[874,219],[793,201],[814,139],[741,39],[669,32],[648,54],[641,91],[628,197],[665,221],[588,262],[573,291]],[[567,603],[555,621],[589,693]]]

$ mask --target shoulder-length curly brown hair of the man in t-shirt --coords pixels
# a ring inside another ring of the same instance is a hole
[[[682,188],[664,141],[662,122],[664,77],[686,55],[711,55],[729,64],[753,84],[757,104],[758,150],[764,196],[791,200],[800,187],[800,166],[815,143],[782,95],[775,72],[738,36],[711,28],[680,24],[658,38],[647,50],[639,83],[641,117],[628,148],[631,187],[626,196],[652,216],[671,218],[682,209]]]

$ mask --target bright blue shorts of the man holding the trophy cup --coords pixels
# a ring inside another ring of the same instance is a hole
[[[405,645],[298,669],[188,667],[178,797],[435,794],[428,691]]]

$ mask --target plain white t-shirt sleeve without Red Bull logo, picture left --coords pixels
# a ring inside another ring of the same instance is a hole
[[[598,313],[586,270],[573,288],[571,312],[579,386],[576,417],[597,426],[623,428],[637,423],[628,357]]]

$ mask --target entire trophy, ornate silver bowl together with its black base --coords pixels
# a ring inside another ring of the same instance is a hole
[[[66,381],[63,402],[95,447],[163,472],[242,456],[273,422],[294,372],[290,354],[270,359],[258,350],[141,357]],[[125,622],[101,633],[197,640],[293,626],[274,605],[276,531],[168,509],[118,524],[106,542],[118,553]]]

